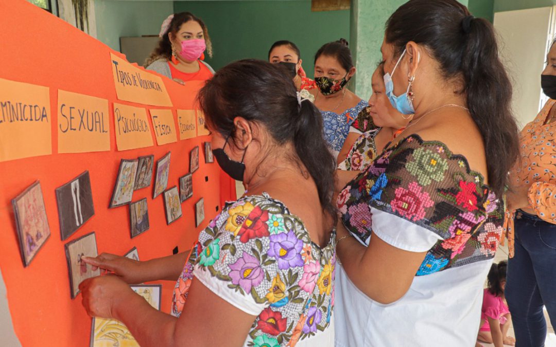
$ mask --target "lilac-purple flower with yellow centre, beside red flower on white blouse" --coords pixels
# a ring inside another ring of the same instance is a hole
[[[294,230],[289,233],[279,233],[270,235],[270,248],[267,252],[270,257],[278,260],[278,268],[286,270],[303,266],[301,259],[301,249],[303,242],[295,236]]]

